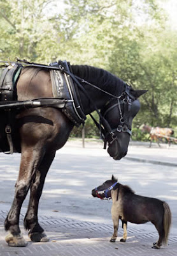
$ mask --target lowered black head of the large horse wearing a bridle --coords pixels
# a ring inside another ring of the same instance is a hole
[[[132,120],[139,111],[140,103],[138,97],[146,91],[130,91],[122,93],[119,99],[111,99],[101,109],[101,113],[111,127],[104,136],[108,142],[108,153],[115,160],[120,160],[127,154],[131,138]]]

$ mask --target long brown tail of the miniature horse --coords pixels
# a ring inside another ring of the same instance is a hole
[[[163,237],[162,243],[167,244],[169,229],[171,226],[171,211],[169,209],[169,205],[166,202],[164,202],[163,206],[164,206],[164,237]]]

